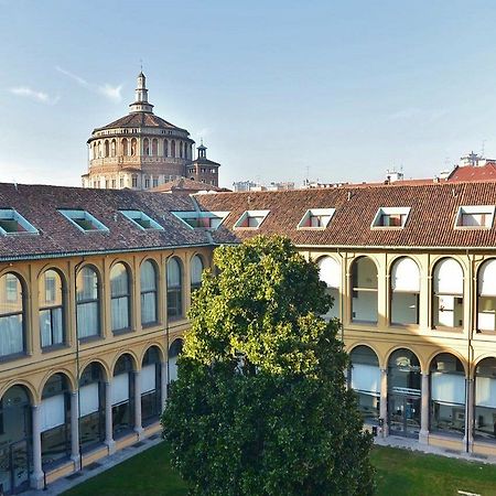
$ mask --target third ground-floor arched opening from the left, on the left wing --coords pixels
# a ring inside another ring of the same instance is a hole
[[[79,442],[88,451],[105,440],[105,371],[97,362],[79,378]]]

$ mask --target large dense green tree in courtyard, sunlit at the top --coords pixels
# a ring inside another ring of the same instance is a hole
[[[193,495],[374,492],[337,321],[314,262],[283,237],[215,250],[162,417]]]

